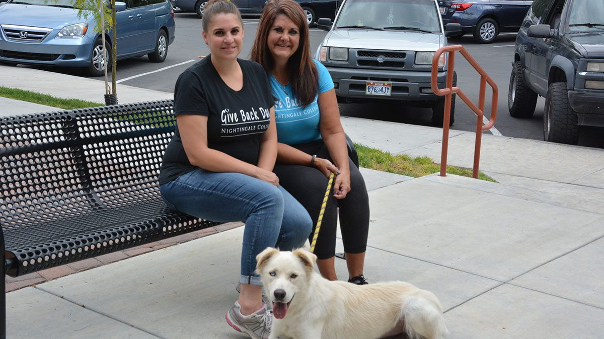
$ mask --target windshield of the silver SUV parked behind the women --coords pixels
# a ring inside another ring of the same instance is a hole
[[[349,0],[336,28],[440,32],[439,16],[430,0]]]

